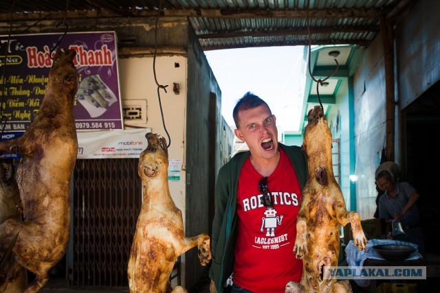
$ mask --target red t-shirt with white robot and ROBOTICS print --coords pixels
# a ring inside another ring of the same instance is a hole
[[[232,281],[256,293],[284,292],[289,281],[299,282],[303,261],[293,253],[301,189],[285,152],[267,178],[274,209],[261,204],[261,176],[250,159],[239,178],[236,211],[239,216]]]

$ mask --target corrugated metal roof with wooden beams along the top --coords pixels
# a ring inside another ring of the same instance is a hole
[[[417,0],[164,0],[161,17],[188,16],[205,50],[239,47],[369,45],[380,17]],[[12,7],[12,3],[14,3]],[[0,0],[0,21],[155,16],[159,0]],[[67,11],[66,11],[67,7]]]

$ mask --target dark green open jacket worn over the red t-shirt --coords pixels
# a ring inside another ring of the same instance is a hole
[[[303,190],[307,182],[307,158],[298,146],[278,143],[285,150],[295,167],[296,175]],[[234,269],[234,248],[236,242],[236,189],[243,163],[250,152],[236,154],[219,170],[215,185],[215,213],[212,222],[211,255],[209,277],[214,281],[217,292],[222,292],[223,285]]]

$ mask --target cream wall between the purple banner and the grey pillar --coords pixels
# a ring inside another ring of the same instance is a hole
[[[175,63],[179,67],[175,67]],[[153,74],[153,56],[142,58],[120,58],[119,76],[121,99],[146,99],[146,127],[151,132],[162,135],[168,141],[168,136],[162,124],[162,115],[157,96],[157,84]],[[181,162],[180,180],[168,181],[171,196],[176,206],[185,215],[185,137],[186,137],[186,57],[157,56],[155,59],[157,82],[166,85],[166,91],[159,90],[166,129],[171,137],[168,148],[168,159]],[[180,87],[179,95],[173,92],[173,82]],[[126,124],[129,122],[126,121]],[[137,174],[133,174],[137,176]],[[183,217],[185,219],[185,216]]]

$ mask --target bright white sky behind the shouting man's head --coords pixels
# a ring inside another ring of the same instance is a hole
[[[222,49],[205,54],[221,89],[221,113],[232,129],[236,101],[250,91],[269,104],[280,134],[299,130],[307,70],[303,68],[303,46]]]

